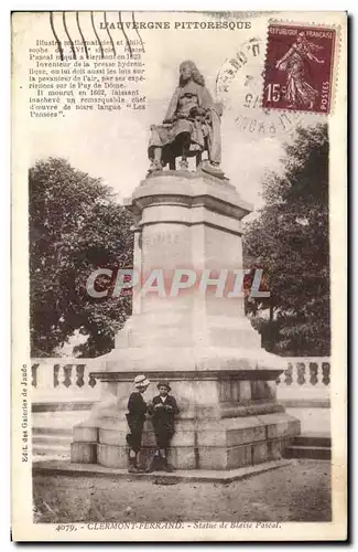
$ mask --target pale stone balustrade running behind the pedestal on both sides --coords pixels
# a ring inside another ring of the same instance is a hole
[[[327,402],[330,388],[330,359],[288,358],[288,369],[276,381],[278,400]],[[104,370],[100,359],[32,359],[32,402],[98,401],[101,384],[90,372]]]

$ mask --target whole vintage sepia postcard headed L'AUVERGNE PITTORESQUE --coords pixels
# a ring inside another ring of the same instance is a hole
[[[11,25],[13,540],[346,540],[347,14]]]

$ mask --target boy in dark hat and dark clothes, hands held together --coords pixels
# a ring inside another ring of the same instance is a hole
[[[149,471],[160,468],[164,468],[165,471],[173,471],[174,468],[167,461],[167,449],[175,433],[174,417],[178,413],[178,407],[174,396],[169,394],[172,390],[167,382],[160,381],[156,386],[159,395],[153,397],[150,413],[153,416],[152,422],[158,450]]]

